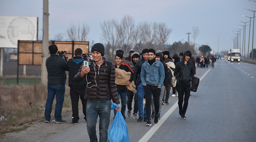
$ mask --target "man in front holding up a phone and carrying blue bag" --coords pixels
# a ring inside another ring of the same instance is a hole
[[[88,82],[85,89],[87,132],[90,142],[97,142],[96,123],[99,116],[100,142],[107,142],[108,126],[110,123],[111,99],[113,103],[120,102],[115,83],[116,70],[114,65],[106,61],[104,45],[95,43],[91,48],[93,60],[89,61],[89,67],[82,65],[74,77],[74,81],[80,82],[84,78]],[[110,67],[109,67],[110,66]],[[110,71],[108,71],[110,69]],[[119,111],[116,108],[117,111]]]

